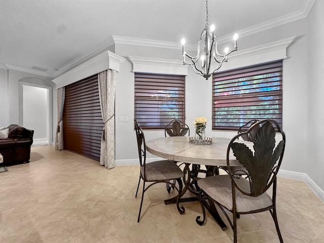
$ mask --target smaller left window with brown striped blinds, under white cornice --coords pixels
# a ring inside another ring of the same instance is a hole
[[[185,76],[135,72],[135,119],[142,129],[185,120]]]

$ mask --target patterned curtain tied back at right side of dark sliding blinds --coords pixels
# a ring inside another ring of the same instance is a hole
[[[115,82],[116,71],[106,70],[98,74],[101,115],[104,122],[101,138],[100,165],[115,167]]]

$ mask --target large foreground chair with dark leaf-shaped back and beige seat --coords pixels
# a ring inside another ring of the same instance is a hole
[[[249,135],[256,127],[259,128],[253,142],[237,140]],[[206,213],[203,201],[212,199],[225,214],[236,243],[237,216],[270,211],[279,240],[283,242],[276,215],[276,176],[284,155],[285,144],[285,133],[278,123],[271,119],[258,121],[248,131],[233,137],[227,148],[226,160],[229,174],[206,177],[198,181],[199,200],[204,218],[200,221],[200,216],[197,216],[196,222],[199,225],[204,224]],[[229,164],[230,154],[233,154],[245,168],[247,178],[240,176],[240,169],[232,170]],[[266,192],[270,187],[272,187],[272,196]],[[226,210],[232,213],[232,220]]]

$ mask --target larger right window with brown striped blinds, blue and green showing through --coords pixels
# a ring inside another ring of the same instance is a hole
[[[238,130],[252,119],[282,125],[282,60],[213,75],[213,129]]]

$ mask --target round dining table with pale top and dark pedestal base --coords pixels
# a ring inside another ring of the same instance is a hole
[[[185,165],[183,172],[183,182],[185,186],[180,192],[180,201],[197,200],[199,194],[199,187],[197,181],[200,179],[198,175],[204,173],[205,176],[213,176],[219,174],[219,168],[227,168],[226,154],[227,147],[231,139],[228,138],[212,138],[212,144],[193,144],[189,143],[188,136],[179,137],[164,137],[155,138],[146,142],[146,150],[156,156],[170,159],[176,163],[183,163]],[[238,141],[245,143],[251,148],[253,143],[247,141]],[[238,160],[234,155],[229,153],[229,165],[240,166]],[[205,166],[206,170],[201,166]],[[200,174],[199,174],[200,173]],[[193,193],[194,197],[184,198],[183,195],[189,190]],[[177,196],[165,200],[165,204],[176,203]],[[219,216],[216,206],[212,200],[202,201],[201,203],[207,208],[207,210],[214,217],[216,222],[223,230],[227,229],[226,224]]]

